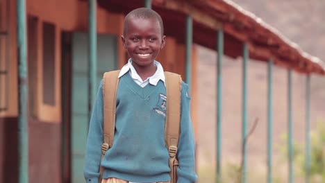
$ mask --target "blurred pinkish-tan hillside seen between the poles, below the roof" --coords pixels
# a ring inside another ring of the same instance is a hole
[[[199,182],[214,182],[216,164],[216,58],[215,51],[198,49],[198,113],[197,171]],[[287,179],[285,134],[288,132],[288,71],[273,68],[273,164],[274,179]],[[222,171],[232,176],[233,167],[240,164],[242,144],[242,59],[224,57],[222,64]],[[306,76],[292,73],[293,140],[305,139]],[[311,127],[325,119],[324,78],[312,76]],[[267,64],[250,60],[248,66],[248,130],[258,118],[258,125],[247,144],[249,182],[266,182],[267,173]],[[231,182],[231,180],[226,180]]]

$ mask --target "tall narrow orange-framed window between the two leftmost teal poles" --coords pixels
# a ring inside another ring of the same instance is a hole
[[[56,24],[39,20],[37,23],[37,76],[35,96],[37,119],[42,122],[61,121],[60,83],[60,28]]]

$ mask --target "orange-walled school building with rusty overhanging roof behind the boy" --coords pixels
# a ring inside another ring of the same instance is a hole
[[[217,51],[216,62],[227,55],[306,75],[325,73],[319,59],[228,0],[1,0],[0,182],[24,182],[25,175],[33,183],[84,181],[90,97],[103,72],[126,64],[124,16],[143,6],[163,18],[167,46],[157,60],[189,82],[194,130],[195,44]],[[88,30],[95,31],[96,47]]]

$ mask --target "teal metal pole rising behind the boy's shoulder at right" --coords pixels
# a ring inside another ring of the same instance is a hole
[[[190,15],[186,17],[186,82],[189,89],[191,89],[191,71],[192,71],[192,37],[193,37],[193,19]]]

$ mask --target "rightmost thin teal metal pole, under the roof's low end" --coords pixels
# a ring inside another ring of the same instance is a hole
[[[306,183],[310,181],[310,75],[306,77]]]

